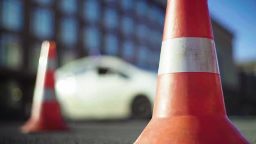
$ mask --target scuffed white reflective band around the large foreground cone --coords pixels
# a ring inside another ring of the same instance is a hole
[[[173,72],[219,74],[214,41],[200,37],[179,37],[163,41],[158,75]]]

